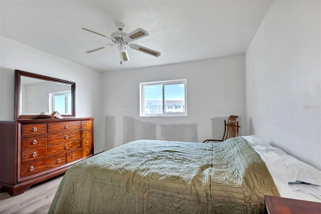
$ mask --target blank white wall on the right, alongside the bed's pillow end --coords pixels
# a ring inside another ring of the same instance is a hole
[[[250,134],[321,169],[321,2],[275,1],[246,51]]]

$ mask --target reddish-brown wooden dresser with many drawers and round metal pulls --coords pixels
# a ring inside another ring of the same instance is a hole
[[[10,195],[94,155],[93,118],[0,122],[0,182]]]

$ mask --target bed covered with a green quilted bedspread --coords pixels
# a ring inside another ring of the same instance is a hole
[[[264,195],[289,190],[259,144],[133,141],[71,167],[49,213],[264,213]]]

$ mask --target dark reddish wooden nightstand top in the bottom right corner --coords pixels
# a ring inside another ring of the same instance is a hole
[[[319,214],[321,203],[265,195],[265,213],[268,214]]]

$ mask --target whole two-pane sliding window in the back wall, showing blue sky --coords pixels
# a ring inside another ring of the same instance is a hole
[[[187,80],[143,82],[140,117],[187,116]]]

